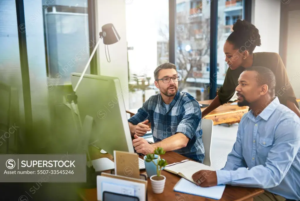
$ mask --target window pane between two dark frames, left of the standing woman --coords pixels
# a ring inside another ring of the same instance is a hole
[[[177,1],[185,12],[176,13],[175,62],[182,77],[179,90],[196,97],[196,89],[209,82],[210,1]]]

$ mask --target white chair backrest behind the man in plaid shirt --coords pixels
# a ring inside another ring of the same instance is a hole
[[[205,157],[203,160],[204,165],[211,166],[211,139],[214,122],[211,119],[202,119],[202,142],[204,145]]]

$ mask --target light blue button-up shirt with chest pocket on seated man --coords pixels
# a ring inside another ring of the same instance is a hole
[[[257,117],[247,112],[217,183],[263,188],[300,200],[300,118],[276,97]],[[247,169],[248,168],[248,169]]]

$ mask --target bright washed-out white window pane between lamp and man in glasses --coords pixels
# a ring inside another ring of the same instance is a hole
[[[161,63],[169,62],[169,1],[143,0],[126,5],[126,37],[129,109],[135,109],[159,92],[153,72]]]

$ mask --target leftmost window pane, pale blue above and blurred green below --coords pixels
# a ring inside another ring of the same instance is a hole
[[[16,154],[16,137],[23,137],[25,130],[25,111],[15,1],[0,1],[0,19],[0,154]],[[9,131],[12,126],[16,130]]]

